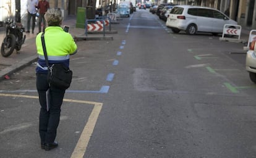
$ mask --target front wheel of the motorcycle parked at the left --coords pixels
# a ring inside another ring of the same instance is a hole
[[[16,43],[15,36],[12,34],[7,35],[4,41],[2,42],[2,46],[1,46],[1,54],[3,57],[9,57],[11,56],[15,48],[15,43]]]

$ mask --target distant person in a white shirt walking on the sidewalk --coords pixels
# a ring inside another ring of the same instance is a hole
[[[36,17],[36,6],[38,4],[38,0],[28,0],[27,1],[27,12],[28,12],[28,19],[27,19],[27,31],[26,33],[30,33],[30,20],[32,18],[32,33],[35,30],[35,17]]]

